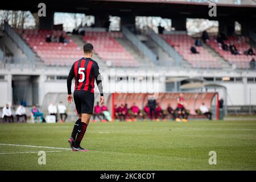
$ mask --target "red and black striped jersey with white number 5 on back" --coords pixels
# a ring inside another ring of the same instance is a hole
[[[71,84],[74,77],[75,90],[94,93],[94,80],[96,80],[101,96],[103,96],[101,75],[96,61],[88,57],[82,57],[73,63],[67,79],[68,94],[71,94]]]

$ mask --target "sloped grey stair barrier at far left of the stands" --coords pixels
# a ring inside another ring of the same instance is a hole
[[[11,26],[5,22],[5,32],[10,38],[17,44],[17,46],[22,50],[22,52],[27,56],[28,60],[31,61],[31,64],[35,63],[36,55],[32,49],[20,38],[19,34],[11,28]]]

